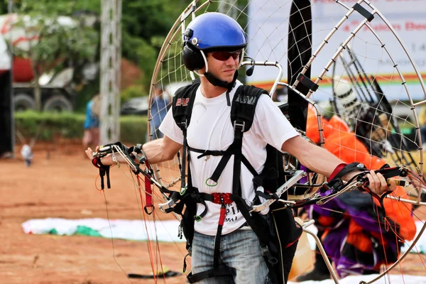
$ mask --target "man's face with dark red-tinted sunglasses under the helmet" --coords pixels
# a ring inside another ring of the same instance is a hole
[[[240,56],[241,50],[207,53],[209,72],[219,80],[228,83],[232,82],[232,80],[234,80],[234,74],[239,67]]]

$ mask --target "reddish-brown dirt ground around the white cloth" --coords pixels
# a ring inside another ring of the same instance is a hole
[[[0,283],[154,283],[126,277],[151,273],[146,242],[116,239],[113,248],[110,239],[24,234],[21,224],[28,219],[107,218],[104,197],[94,186],[97,170],[81,146],[38,143],[33,150],[30,168],[18,154],[0,160]],[[109,219],[141,219],[133,185],[121,170],[111,169],[111,185],[106,192]],[[182,271],[185,244],[163,243],[160,249],[163,265]],[[426,275],[425,258],[410,255],[401,270]],[[185,276],[167,278],[167,283],[186,283]]]

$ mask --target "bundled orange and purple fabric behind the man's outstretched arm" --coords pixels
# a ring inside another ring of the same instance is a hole
[[[324,148],[340,158],[344,163],[358,161],[367,168],[377,170],[385,161],[368,153],[366,146],[351,132],[349,125],[339,118],[332,116],[329,119],[321,117]],[[306,136],[314,143],[320,144],[318,131],[317,111],[308,105]],[[402,187],[395,192],[403,195]],[[315,219],[318,229],[317,236],[321,239],[329,260],[334,263],[340,277],[349,274],[377,274],[381,266],[390,265],[398,256],[400,244],[392,230],[386,231],[377,224],[374,211],[376,200],[363,192],[345,192],[331,202],[322,206],[312,205],[307,209],[310,219]],[[395,200],[384,200],[386,215],[398,226],[398,236],[404,240],[411,240],[415,236],[415,222],[411,216],[411,205],[401,208]],[[373,241],[374,240],[374,241]],[[378,244],[378,245],[376,245]],[[336,249],[339,248],[339,249]],[[386,248],[386,253],[383,253]],[[299,275],[298,282],[308,280],[325,280],[330,278],[320,250],[316,249],[314,269]]]

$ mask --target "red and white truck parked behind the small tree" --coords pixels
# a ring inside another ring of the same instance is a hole
[[[38,35],[28,35],[23,28],[13,26],[16,21],[18,21],[17,14],[0,16],[0,75],[7,70],[12,70],[14,110],[24,111],[35,109],[36,106],[33,62],[29,58],[16,55],[13,50],[28,50],[38,40]],[[60,16],[58,22],[64,26],[75,24],[72,18],[66,16]],[[40,84],[43,111],[72,111],[74,109],[76,100],[76,93],[72,87],[74,71],[73,67],[65,67],[40,76],[38,83]],[[97,72],[97,65],[91,65],[87,72],[90,73],[89,77],[93,78],[94,73]]]

